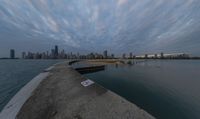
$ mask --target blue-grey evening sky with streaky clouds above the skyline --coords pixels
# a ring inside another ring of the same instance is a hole
[[[199,0],[0,0],[0,57],[15,49],[200,55]]]

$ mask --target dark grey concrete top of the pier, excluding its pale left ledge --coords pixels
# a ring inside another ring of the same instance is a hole
[[[154,119],[133,103],[87,80],[68,63],[55,65],[24,103],[17,119]]]

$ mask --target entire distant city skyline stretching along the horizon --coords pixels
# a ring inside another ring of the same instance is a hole
[[[133,52],[123,53],[121,56],[117,56],[108,50],[104,50],[102,53],[90,52],[88,54],[82,54],[79,52],[68,52],[64,49],[59,49],[58,45],[55,45],[52,49],[47,49],[44,52],[31,52],[23,51],[21,57],[16,57],[15,49],[10,49],[10,57],[0,57],[0,59],[200,59],[198,56],[192,56],[187,53],[153,53],[153,54],[140,54],[136,55]]]

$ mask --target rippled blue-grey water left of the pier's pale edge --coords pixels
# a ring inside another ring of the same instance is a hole
[[[60,60],[0,60],[0,111],[31,79]]]

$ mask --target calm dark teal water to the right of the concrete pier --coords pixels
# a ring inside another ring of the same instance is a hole
[[[85,76],[159,119],[200,119],[200,61],[149,60]]]

